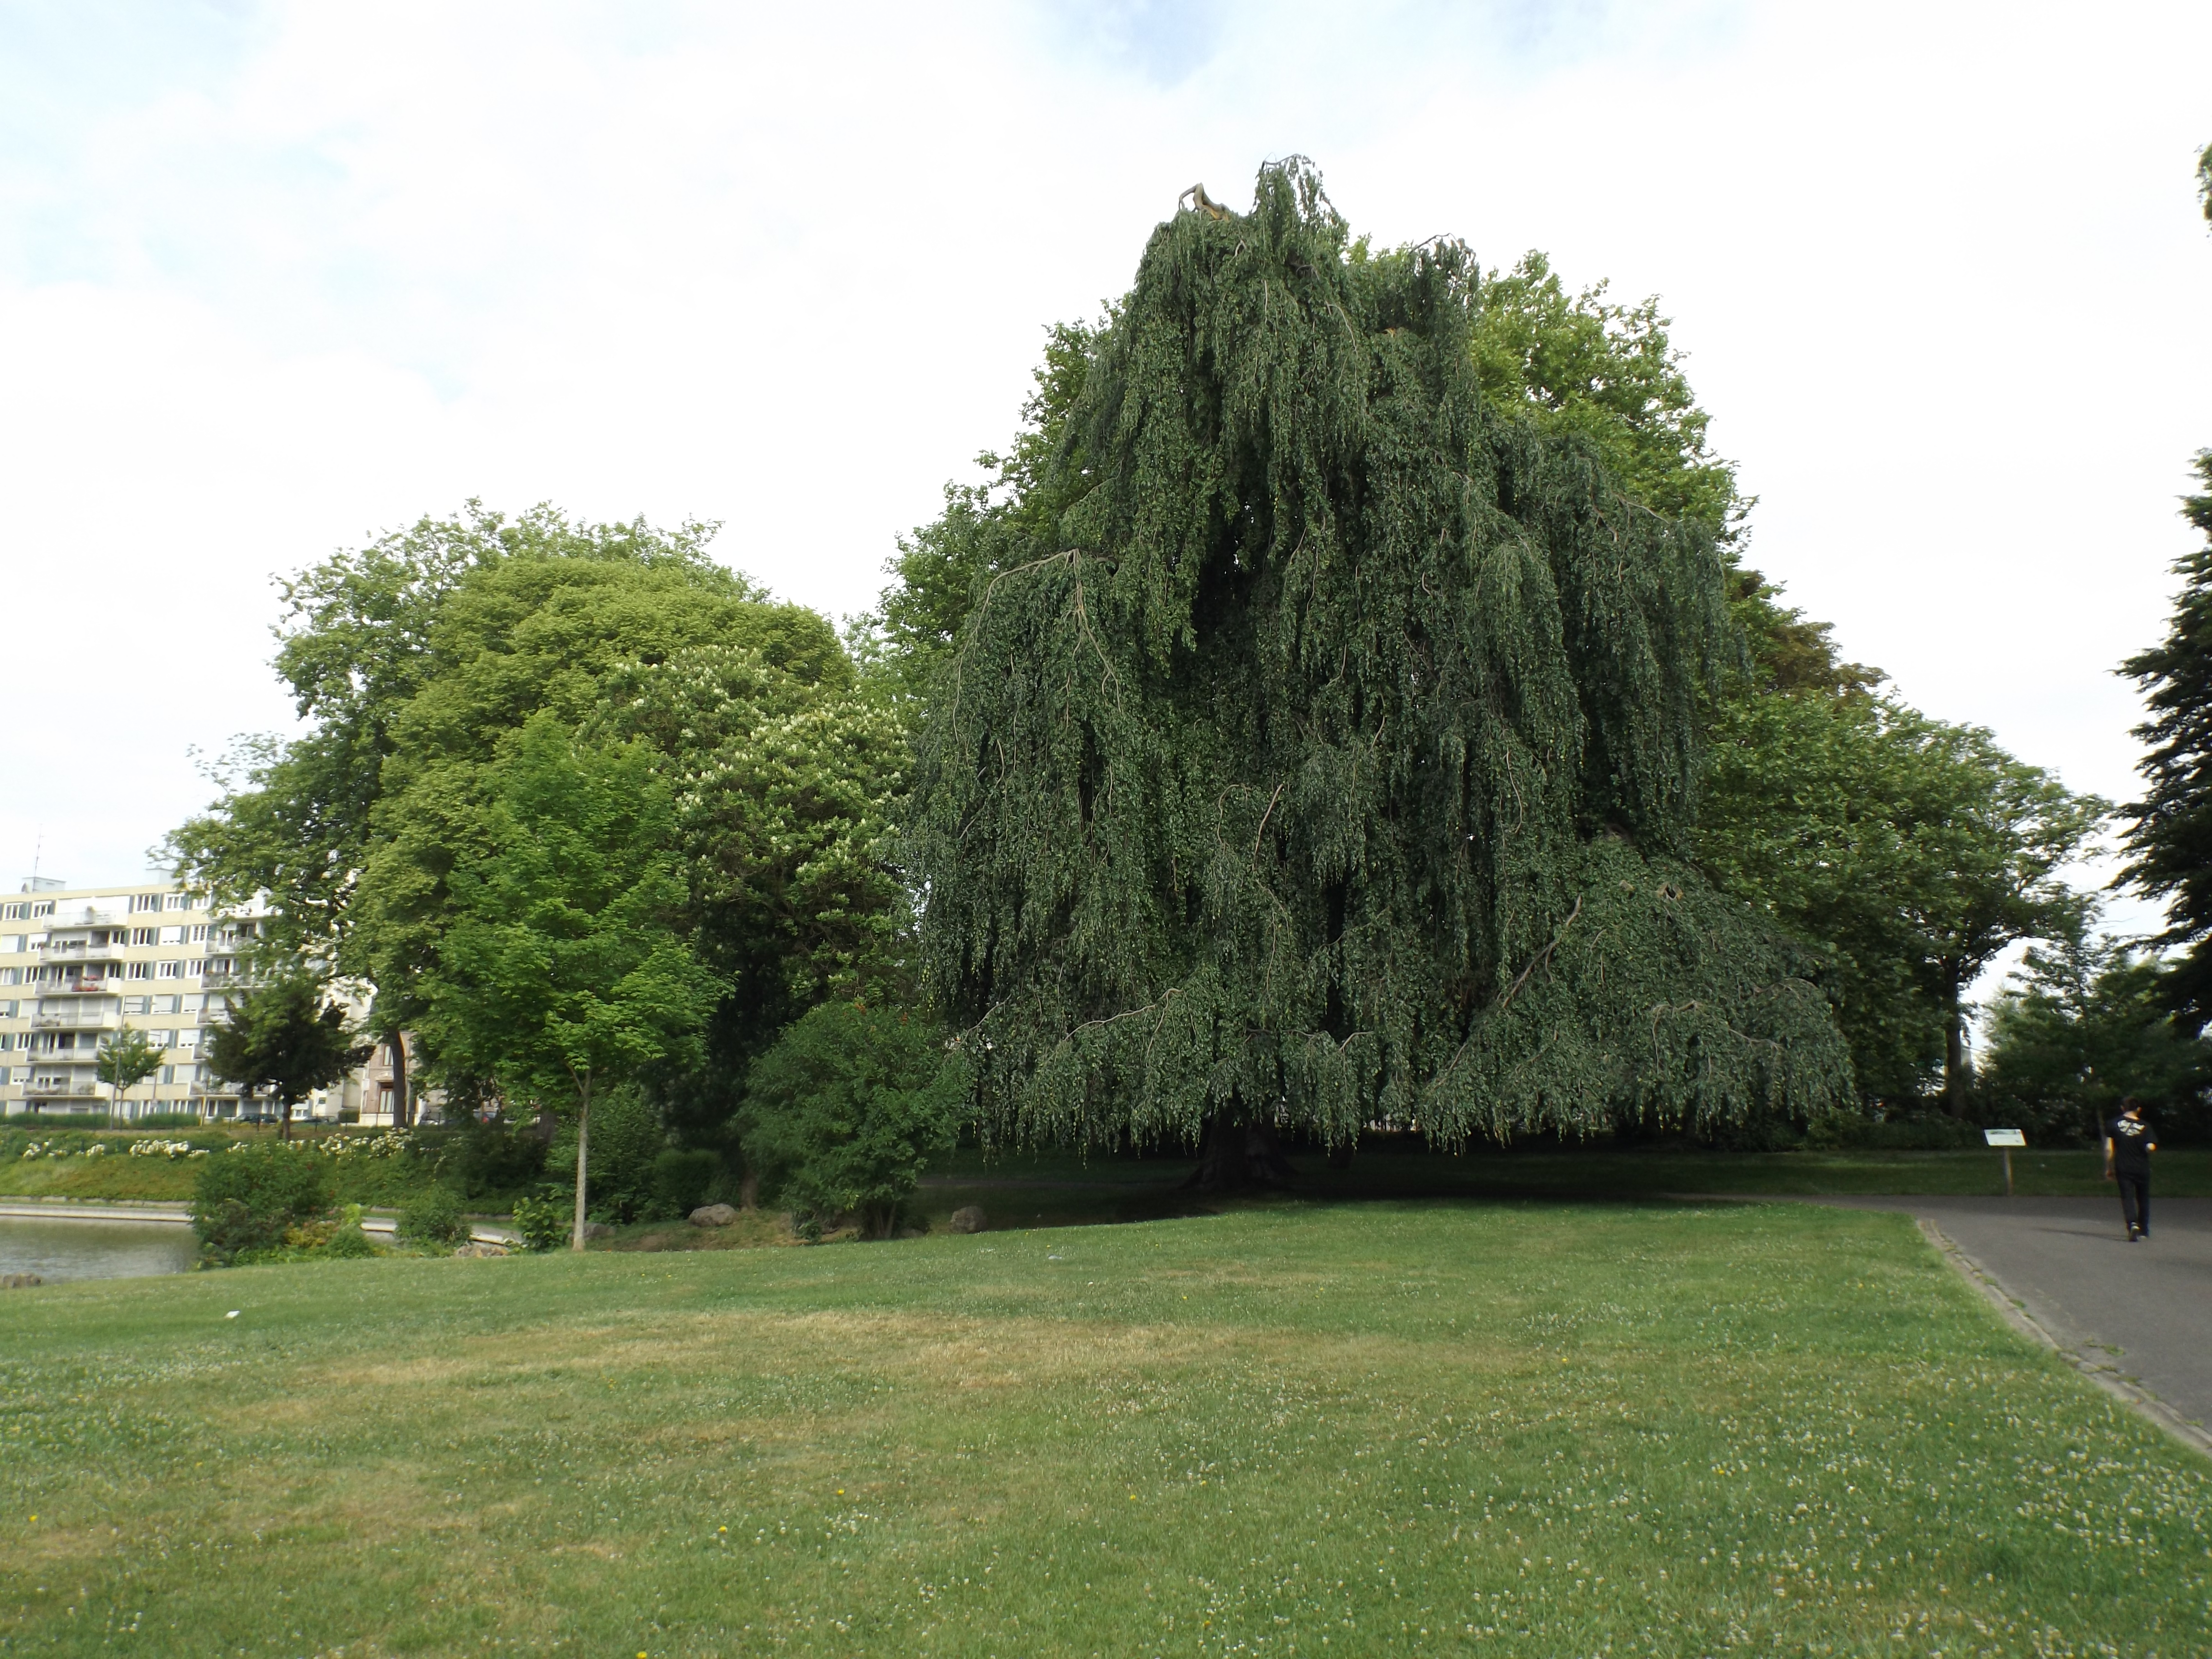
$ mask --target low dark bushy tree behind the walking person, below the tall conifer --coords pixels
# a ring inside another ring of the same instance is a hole
[[[2095,1141],[2126,1095],[2161,1135],[2212,1128],[2212,1042],[2168,1011],[2172,969],[2117,940],[2062,940],[2028,951],[1989,1013],[1984,1115],[2037,1139]]]

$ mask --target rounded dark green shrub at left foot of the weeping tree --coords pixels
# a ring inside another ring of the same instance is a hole
[[[745,1159],[810,1237],[852,1214],[889,1239],[922,1170],[958,1137],[967,1071],[929,1020],[825,1002],[754,1064]]]

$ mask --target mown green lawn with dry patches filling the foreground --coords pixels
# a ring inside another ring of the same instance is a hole
[[[7,1292],[0,1447],[4,1652],[2212,1650],[2212,1467],[1798,1206]]]

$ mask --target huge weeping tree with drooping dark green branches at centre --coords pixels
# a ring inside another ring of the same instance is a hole
[[[1367,257],[1303,161],[1194,199],[922,714],[922,960],[987,1135],[1234,1186],[1279,1128],[1847,1102],[1807,958],[1679,856],[1717,526],[1482,398],[1462,246]]]

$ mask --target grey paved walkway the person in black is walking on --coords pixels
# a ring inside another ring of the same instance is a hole
[[[2130,1245],[2110,1199],[1803,1199],[1933,1221],[2062,1349],[2212,1425],[2212,1199],[2163,1199]]]

